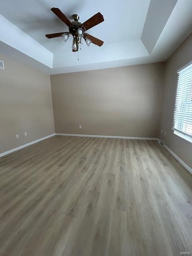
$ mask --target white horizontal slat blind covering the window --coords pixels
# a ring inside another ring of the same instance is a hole
[[[173,130],[192,138],[192,64],[178,72]]]

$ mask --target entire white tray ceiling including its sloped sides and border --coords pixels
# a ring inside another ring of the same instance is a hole
[[[80,22],[101,12],[104,22],[88,33],[104,45],[83,44],[78,61],[72,38],[46,38],[68,31],[52,7]],[[164,61],[192,32],[191,0],[0,0],[0,14],[0,51],[50,74]]]

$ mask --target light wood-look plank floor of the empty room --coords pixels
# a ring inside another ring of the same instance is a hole
[[[192,253],[192,175],[156,141],[54,136],[0,158],[1,256]]]

